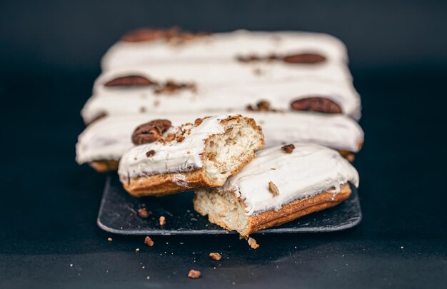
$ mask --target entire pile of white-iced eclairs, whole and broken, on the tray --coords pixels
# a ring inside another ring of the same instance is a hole
[[[138,29],[101,69],[76,161],[132,196],[194,191],[197,212],[248,238],[358,187],[361,101],[333,36]]]

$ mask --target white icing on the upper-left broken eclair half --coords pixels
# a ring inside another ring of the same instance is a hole
[[[224,133],[222,120],[224,116],[206,118],[200,126],[194,126],[191,133],[181,142],[171,141],[161,143],[145,143],[131,148],[124,153],[119,162],[118,173],[121,181],[136,176],[151,176],[161,173],[181,173],[192,171],[203,166],[201,154],[204,151],[205,141],[209,136]],[[194,122],[194,119],[191,119]],[[166,131],[169,133],[170,131]],[[165,133],[165,134],[166,134]],[[154,150],[154,156],[148,158],[147,151]]]

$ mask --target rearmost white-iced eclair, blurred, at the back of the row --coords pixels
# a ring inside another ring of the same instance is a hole
[[[297,31],[196,33],[180,29],[136,29],[111,46],[103,70],[132,64],[187,61],[283,61],[320,64],[348,61],[346,46],[334,36]]]

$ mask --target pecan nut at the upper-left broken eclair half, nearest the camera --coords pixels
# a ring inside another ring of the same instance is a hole
[[[157,119],[149,123],[141,124],[135,128],[132,134],[132,142],[136,145],[143,143],[152,143],[158,141],[163,133],[171,127],[171,121],[167,119]]]

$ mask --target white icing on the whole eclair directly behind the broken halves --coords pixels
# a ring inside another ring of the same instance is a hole
[[[216,114],[223,114],[216,113]],[[317,143],[345,151],[358,151],[363,131],[356,121],[342,115],[312,112],[248,112],[237,111],[254,118],[262,127],[266,147],[291,142]],[[134,146],[131,135],[136,126],[154,119],[169,119],[173,126],[194,121],[204,113],[148,113],[134,116],[106,116],[88,126],[78,138],[76,161],[115,160]]]

